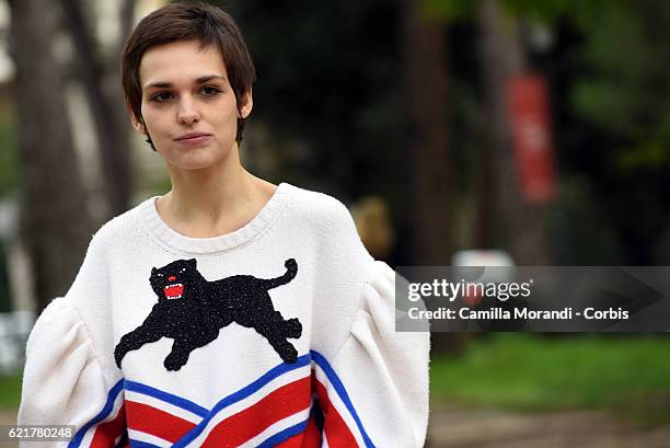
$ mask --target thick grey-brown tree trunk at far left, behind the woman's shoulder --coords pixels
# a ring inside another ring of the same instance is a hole
[[[59,11],[39,0],[14,0],[13,92],[21,171],[21,238],[30,255],[38,309],[67,291],[81,265],[92,225],[78,171],[54,58]]]

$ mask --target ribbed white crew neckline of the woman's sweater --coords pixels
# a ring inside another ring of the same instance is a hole
[[[258,237],[274,220],[277,211],[285,203],[290,188],[290,184],[280,183],[261,211],[251,221],[238,230],[218,237],[187,237],[168,226],[155,207],[155,202],[160,196],[153,196],[145,200],[140,206],[140,214],[148,230],[163,244],[193,254],[222,252],[242,245]]]

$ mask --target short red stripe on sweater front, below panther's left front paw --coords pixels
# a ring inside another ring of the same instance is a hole
[[[195,428],[195,423],[143,403],[126,400],[128,428],[151,434],[173,444]]]

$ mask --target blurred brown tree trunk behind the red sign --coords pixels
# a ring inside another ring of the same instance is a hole
[[[489,192],[496,197],[495,216],[505,228],[509,251],[518,264],[546,265],[548,254],[544,236],[542,206],[528,204],[521,196],[510,145],[507,112],[507,85],[525,69],[525,56],[516,20],[506,16],[497,0],[483,0],[480,9],[482,30],[482,72],[488,102],[492,175]],[[484,193],[487,194],[487,193]]]

